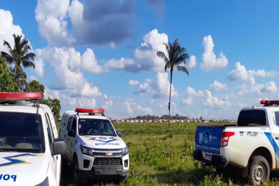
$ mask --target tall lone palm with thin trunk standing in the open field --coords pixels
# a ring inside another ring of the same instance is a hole
[[[166,53],[163,51],[158,51],[157,56],[162,58],[165,65],[165,72],[167,69],[171,71],[171,83],[172,83],[172,73],[175,69],[178,71],[185,72],[189,76],[188,69],[185,66],[181,66],[183,63],[186,64],[186,60],[189,58],[189,55],[186,53],[186,49],[184,47],[180,47],[178,39],[176,39],[173,43],[165,43],[163,45],[166,49]],[[171,85],[169,89],[169,126],[170,126],[170,109],[171,109]]]

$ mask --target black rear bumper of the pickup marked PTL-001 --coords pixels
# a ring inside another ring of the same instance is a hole
[[[199,150],[194,150],[193,152],[194,159],[205,163],[206,165],[213,165],[215,167],[226,167],[229,163],[228,158],[219,155],[212,155],[211,161],[205,160],[203,154]]]

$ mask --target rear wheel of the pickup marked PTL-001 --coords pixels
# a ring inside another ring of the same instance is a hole
[[[254,156],[249,161],[248,179],[253,185],[261,185],[269,179],[269,165],[263,156]]]

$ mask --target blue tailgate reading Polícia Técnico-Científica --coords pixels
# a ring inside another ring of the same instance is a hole
[[[196,129],[196,149],[220,154],[223,127],[198,126]]]

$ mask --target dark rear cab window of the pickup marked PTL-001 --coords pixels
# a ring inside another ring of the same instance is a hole
[[[239,113],[237,126],[266,126],[264,110],[242,110]]]

